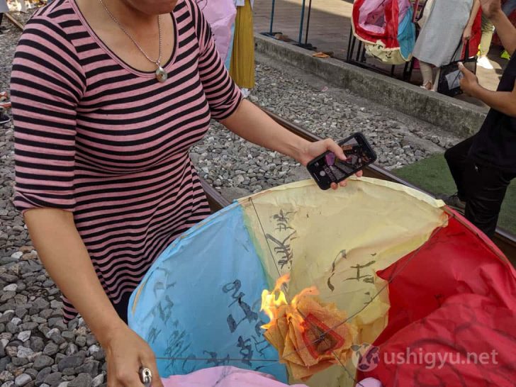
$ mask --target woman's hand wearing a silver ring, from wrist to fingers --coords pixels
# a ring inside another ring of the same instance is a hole
[[[163,387],[156,366],[156,358],[145,340],[127,325],[120,324],[100,340],[108,363],[108,387],[143,386],[140,367],[152,372],[152,387]]]

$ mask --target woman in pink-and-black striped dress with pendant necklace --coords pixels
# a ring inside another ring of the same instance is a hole
[[[106,350],[108,386],[140,385],[142,365],[157,376],[125,324],[128,297],[209,214],[189,148],[211,118],[302,164],[325,150],[344,158],[242,101],[194,0],[53,1],[18,43],[11,96],[15,205],[65,318],[81,313]]]

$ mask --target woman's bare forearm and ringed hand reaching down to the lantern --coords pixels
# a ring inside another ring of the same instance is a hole
[[[62,293],[81,313],[106,352],[109,387],[142,387],[138,371],[152,371],[152,387],[162,387],[147,343],[116,314],[96,275],[71,211],[35,208],[25,213],[41,262]],[[78,273],[79,275],[72,275]]]

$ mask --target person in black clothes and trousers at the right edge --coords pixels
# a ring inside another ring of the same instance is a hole
[[[500,0],[481,0],[481,6],[512,55],[516,28],[503,13]],[[476,135],[444,153],[457,193],[442,198],[464,210],[471,223],[493,237],[505,191],[516,177],[516,57],[512,55],[497,91],[484,89],[475,74],[459,67],[464,74],[461,89],[490,106],[490,111]]]

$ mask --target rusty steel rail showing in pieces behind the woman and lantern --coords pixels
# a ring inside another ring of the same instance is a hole
[[[13,23],[14,26],[16,26],[16,28],[23,30],[23,24],[16,20],[16,18],[13,18],[11,14],[6,13],[6,17],[9,19],[9,21],[11,21],[11,23]],[[305,138],[308,141],[321,140],[320,137],[314,135],[313,133],[310,133],[308,130],[301,128],[300,126],[295,125],[289,122],[288,120],[285,120],[284,118],[281,118],[280,116],[271,113],[270,111],[267,111],[265,109],[263,110],[273,120],[275,120],[281,126],[284,126],[284,128],[290,130],[292,133],[295,133],[296,135]],[[392,174],[386,169],[378,167],[374,164],[364,169],[364,176],[374,177],[375,179],[393,181],[398,184],[403,184],[405,186],[409,186],[410,188],[425,192],[426,194],[432,196],[432,194],[430,194],[429,192],[426,192],[425,190],[420,189],[419,187],[414,186],[413,184],[410,184],[408,181],[400,179],[398,176]],[[202,181],[202,184],[204,190],[206,191],[206,195],[208,196],[208,201],[210,203],[212,211],[218,211],[220,210],[220,208],[223,208],[230,204],[230,202],[227,199],[223,198],[223,196],[220,195],[219,192],[215,190],[212,186],[210,186],[206,181]],[[516,235],[512,235],[510,232],[507,232],[506,230],[497,228],[493,240],[495,244],[500,248],[500,250],[504,252],[505,256],[507,256],[510,262],[512,262],[512,264],[516,266]]]

